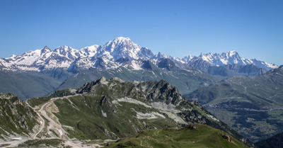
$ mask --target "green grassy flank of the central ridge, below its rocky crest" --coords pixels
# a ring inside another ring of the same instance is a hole
[[[69,137],[76,137],[79,140],[116,139],[117,136],[127,137],[147,128],[178,127],[170,119],[138,120],[135,118],[137,114],[135,110],[144,113],[157,112],[154,108],[124,102],[120,102],[121,106],[115,106],[111,103],[112,99],[104,99],[103,96],[74,96],[54,102],[59,108],[59,113],[55,115],[60,123],[74,127],[65,129],[69,132]],[[107,117],[103,116],[103,113]],[[115,134],[110,132],[107,134],[105,129]]]

